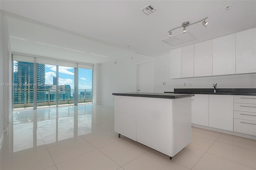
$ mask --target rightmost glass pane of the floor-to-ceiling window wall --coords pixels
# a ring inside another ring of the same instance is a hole
[[[78,68],[78,103],[92,102],[92,69]]]

